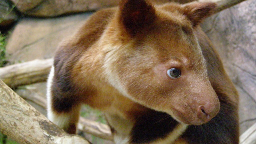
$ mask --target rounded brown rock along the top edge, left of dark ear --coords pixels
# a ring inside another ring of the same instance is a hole
[[[113,7],[120,0],[12,0],[16,8],[23,14],[37,17],[52,17],[68,13],[95,11],[101,8]],[[175,1],[180,3],[193,0],[151,0],[155,3]]]

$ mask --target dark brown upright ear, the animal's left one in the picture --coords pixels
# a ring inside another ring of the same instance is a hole
[[[153,5],[145,0],[123,0],[119,7],[120,22],[131,35],[150,26],[156,17]]]

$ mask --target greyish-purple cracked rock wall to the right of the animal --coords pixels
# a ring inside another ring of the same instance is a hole
[[[240,94],[240,131],[256,122],[256,0],[225,9],[202,24]]]

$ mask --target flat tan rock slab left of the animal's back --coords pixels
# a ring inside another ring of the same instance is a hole
[[[7,41],[8,60],[19,63],[53,57],[58,44],[76,32],[90,14],[21,19]]]

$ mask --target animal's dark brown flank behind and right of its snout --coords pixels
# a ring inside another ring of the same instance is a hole
[[[183,135],[189,144],[238,144],[238,93],[227,77],[221,60],[207,36],[200,28],[195,30],[203,55],[207,60],[207,70],[212,87],[220,100],[220,111],[208,123],[189,126]]]

